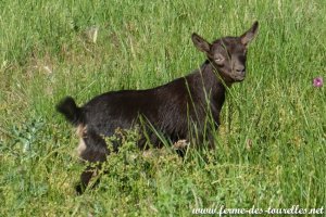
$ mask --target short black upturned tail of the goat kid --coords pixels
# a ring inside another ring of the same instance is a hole
[[[61,100],[55,108],[74,126],[83,124],[84,118],[82,108],[76,105],[75,100],[72,97],[66,97]]]

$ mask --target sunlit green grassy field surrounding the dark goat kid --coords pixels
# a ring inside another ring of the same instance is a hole
[[[4,0],[0,8],[0,216],[326,208],[326,94],[312,85],[326,78],[324,0]],[[99,188],[75,194],[83,165],[74,130],[54,111],[61,98],[83,104],[163,85],[204,61],[193,31],[213,40],[254,21],[248,76],[228,92],[214,152],[190,150],[181,159],[165,149],[146,158],[131,133]]]

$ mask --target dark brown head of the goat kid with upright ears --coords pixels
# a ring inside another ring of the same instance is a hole
[[[192,34],[192,42],[218,71],[226,82],[242,81],[246,77],[247,47],[256,36],[259,24],[254,22],[252,27],[240,37],[224,37],[209,43],[197,34]]]

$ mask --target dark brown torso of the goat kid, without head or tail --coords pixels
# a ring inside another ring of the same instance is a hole
[[[205,76],[212,79],[204,79]],[[103,143],[102,137],[113,136],[117,128],[129,129],[135,125],[150,124],[172,142],[189,139],[189,120],[197,125],[199,132],[202,132],[200,129],[204,127],[209,113],[216,125],[220,124],[225,88],[215,77],[210,63],[205,63],[201,69],[153,89],[112,91],[98,95],[80,107],[78,125],[86,127],[83,137],[97,137],[97,143]],[[204,84],[205,80],[211,84]],[[145,123],[140,123],[139,117],[143,117]],[[162,145],[152,130],[147,133],[153,146]],[[146,149],[145,141],[139,140],[139,148]],[[95,146],[88,143],[91,142],[86,140],[87,149]]]

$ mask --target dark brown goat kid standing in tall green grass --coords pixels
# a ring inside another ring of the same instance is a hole
[[[215,129],[220,125],[226,86],[230,87],[246,77],[247,48],[256,36],[258,27],[255,22],[240,37],[224,37],[213,43],[192,34],[193,44],[206,55],[205,62],[199,69],[166,85],[147,90],[106,92],[82,107],[71,97],[63,99],[57,110],[77,127],[79,156],[100,165],[110,154],[103,137],[113,136],[117,128],[129,129],[143,124],[141,119],[146,119],[172,142],[191,140],[190,123],[196,126],[199,140],[205,139],[203,131],[208,116],[214,120]],[[140,149],[148,149],[149,143],[154,148],[162,146],[158,135],[148,125],[141,129],[141,139],[138,141]],[[118,145],[113,143],[113,150],[117,151]],[[98,168],[88,166],[82,174],[82,183],[77,188],[79,193],[88,186]]]

